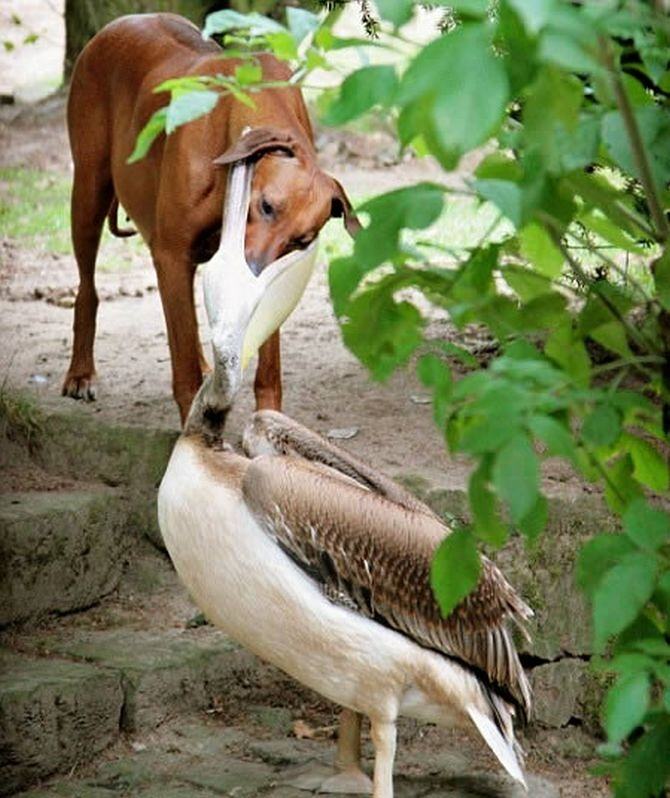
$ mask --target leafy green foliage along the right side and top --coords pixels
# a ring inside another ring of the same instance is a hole
[[[473,149],[484,157],[456,188],[436,170],[435,182],[360,206],[367,225],[330,266],[333,304],[376,378],[416,358],[446,444],[474,462],[471,524],[447,539],[431,574],[443,612],[474,587],[476,546],[542,534],[547,458],[602,487],[621,531],[584,546],[578,579],[598,667],[615,675],[604,768],[620,798],[658,795],[670,776],[670,24],[641,0],[448,6],[442,35],[421,46],[400,29],[418,4],[378,2],[379,19],[365,4],[376,45],[406,60],[351,73],[324,120],[385,113],[402,147],[446,171]],[[280,30],[214,15],[208,29],[252,69],[191,90],[253,102],[263,88],[253,48],[290,61],[297,81],[352,44],[333,34],[337,10],[318,28],[301,13],[300,33],[290,18]],[[184,84],[162,88],[174,104]],[[168,113],[179,124],[209,104],[197,102],[164,110],[160,130]],[[494,207],[493,224],[466,248],[435,246],[431,226],[463,195]],[[459,329],[484,325],[498,345],[489,366],[428,338],[419,298]]]

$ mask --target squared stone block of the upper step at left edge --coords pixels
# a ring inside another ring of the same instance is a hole
[[[109,488],[0,495],[0,625],[89,607],[129,550],[127,509]]]

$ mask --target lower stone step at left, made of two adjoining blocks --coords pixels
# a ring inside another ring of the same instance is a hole
[[[272,678],[206,627],[69,629],[33,642],[27,654],[0,650],[0,795],[89,762],[120,732],[151,733],[182,714],[239,700],[240,685]]]

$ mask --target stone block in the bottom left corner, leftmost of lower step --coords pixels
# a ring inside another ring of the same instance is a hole
[[[116,673],[0,653],[0,795],[90,761],[117,737],[122,704]]]

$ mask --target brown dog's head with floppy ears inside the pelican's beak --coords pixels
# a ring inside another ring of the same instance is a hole
[[[255,159],[245,254],[254,274],[296,249],[305,249],[331,217],[343,217],[353,236],[360,224],[342,186],[321,171],[291,133],[259,127],[245,132],[214,163]]]

